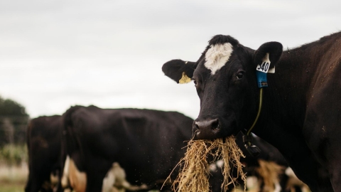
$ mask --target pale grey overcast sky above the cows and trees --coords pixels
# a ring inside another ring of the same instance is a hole
[[[293,48],[341,30],[341,1],[0,1],[0,95],[31,117],[71,105],[175,110],[195,118],[193,82],[163,75],[217,34]]]

